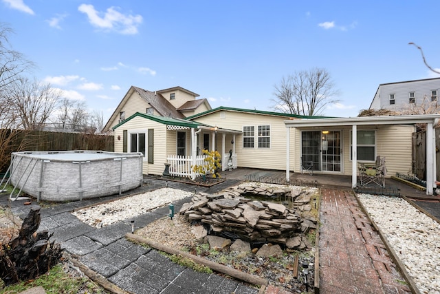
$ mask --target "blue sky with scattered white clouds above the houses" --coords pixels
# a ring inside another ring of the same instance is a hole
[[[181,86],[211,106],[273,110],[274,85],[312,67],[357,116],[380,83],[434,76],[440,1],[0,0],[10,43],[33,75],[107,121],[131,85]]]

